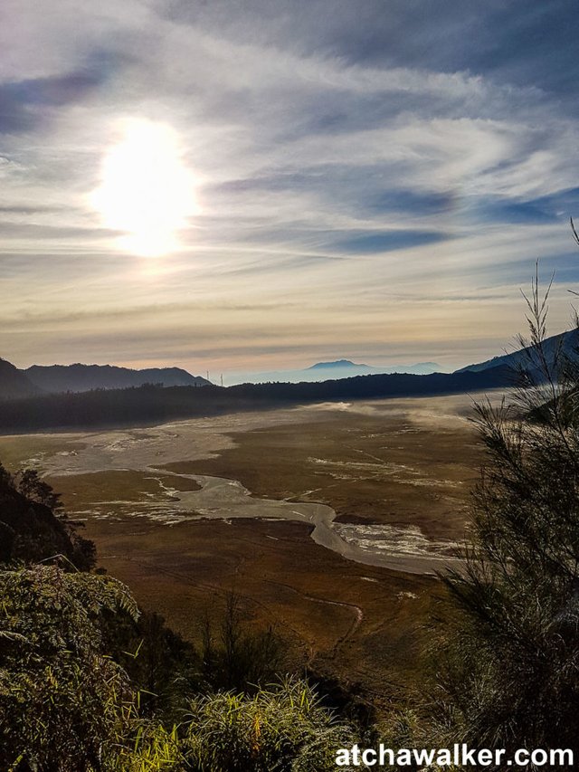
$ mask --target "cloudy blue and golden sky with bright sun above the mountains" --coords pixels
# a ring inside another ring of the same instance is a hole
[[[579,287],[576,0],[3,0],[0,356],[509,348]]]

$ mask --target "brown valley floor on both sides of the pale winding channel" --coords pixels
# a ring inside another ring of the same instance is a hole
[[[469,397],[437,397],[2,437],[0,459],[42,469],[85,523],[100,565],[187,638],[199,641],[205,613],[217,619],[233,590],[251,624],[273,624],[288,640],[289,665],[389,700],[413,679],[440,583],[341,557],[310,538],[291,506],[326,504],[356,538],[413,526],[460,542],[483,461],[470,408]],[[203,481],[179,476],[189,474],[240,481],[264,511],[266,500],[288,506],[267,519],[184,510],[186,496],[204,494]]]

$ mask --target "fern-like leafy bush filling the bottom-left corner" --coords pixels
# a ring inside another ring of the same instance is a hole
[[[127,588],[38,566],[0,573],[0,596],[0,768],[106,768],[136,695],[103,649],[100,619],[138,615]]]

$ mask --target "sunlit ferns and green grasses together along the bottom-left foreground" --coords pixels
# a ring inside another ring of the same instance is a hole
[[[188,697],[174,683],[178,724],[162,722],[167,706],[147,718],[136,681],[105,645],[115,615],[138,620],[127,587],[47,566],[5,571],[0,587],[3,769],[330,769],[335,745],[353,739],[297,679]]]

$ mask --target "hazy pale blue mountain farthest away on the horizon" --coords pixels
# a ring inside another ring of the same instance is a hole
[[[415,365],[364,365],[350,359],[337,359],[333,362],[318,362],[301,370],[273,370],[265,373],[231,373],[225,376],[226,386],[242,383],[315,383],[317,381],[338,380],[354,376],[389,375],[405,373],[415,376],[427,376],[441,372],[441,366],[435,362],[419,362]]]

